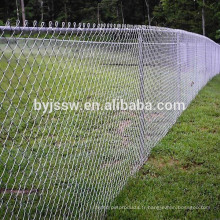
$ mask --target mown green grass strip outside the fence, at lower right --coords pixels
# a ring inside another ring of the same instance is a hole
[[[148,161],[129,180],[107,219],[220,218],[220,75],[205,86]],[[145,210],[151,206],[208,206],[209,209]]]

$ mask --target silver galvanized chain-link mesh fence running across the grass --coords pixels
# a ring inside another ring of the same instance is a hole
[[[1,219],[100,219],[182,110],[52,111],[39,102],[184,102],[220,46],[181,30],[0,27]],[[147,196],[147,195],[146,195]]]

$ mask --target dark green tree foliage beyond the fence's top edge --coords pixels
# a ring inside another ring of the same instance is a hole
[[[18,1],[3,1],[0,20],[15,23]],[[205,9],[206,33],[219,40],[220,2],[214,0],[25,0],[26,19],[29,21],[70,21],[90,23],[149,24],[202,33],[202,8]],[[149,15],[148,15],[149,8]],[[98,18],[99,17],[99,18]]]

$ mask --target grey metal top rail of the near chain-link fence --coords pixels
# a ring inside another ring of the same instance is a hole
[[[147,26],[147,25],[129,25],[129,24],[93,24],[90,25],[85,23],[79,23],[79,25],[76,25],[76,23],[73,23],[71,26],[71,22],[62,22],[62,27],[58,27],[58,22],[55,22],[54,24],[52,22],[49,22],[49,26],[46,27],[45,22],[41,22],[40,26],[37,26],[37,22],[33,22],[33,26],[28,26],[28,21],[25,21],[24,26],[20,26],[20,21],[16,22],[15,26],[11,26],[10,22],[6,22],[5,26],[0,26],[0,31],[7,32],[23,32],[23,33],[35,33],[35,32],[42,32],[42,33],[70,33],[70,34],[76,34],[76,33],[108,33],[108,32],[127,32],[127,33],[134,33],[134,32],[157,32],[157,33],[167,33],[167,34],[173,34],[173,35],[184,35],[187,34],[191,37],[198,37],[200,39],[206,39],[210,42],[217,44],[215,41],[211,40],[210,38],[197,34],[188,32],[185,30],[180,29],[172,29],[172,28],[166,28],[166,27],[157,27],[157,26]],[[92,27],[91,27],[92,26]]]

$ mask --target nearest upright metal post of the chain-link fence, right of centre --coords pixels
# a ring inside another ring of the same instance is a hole
[[[140,102],[144,103],[144,58],[143,58],[143,30],[138,30],[138,67],[140,80]],[[144,162],[144,109],[140,111],[140,162]]]

